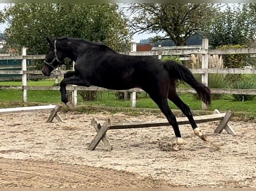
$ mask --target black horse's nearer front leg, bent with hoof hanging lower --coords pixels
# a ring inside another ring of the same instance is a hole
[[[71,73],[70,73],[71,75]],[[70,78],[64,78],[61,82],[60,82],[60,93],[61,93],[61,101],[63,103],[65,103],[65,105],[67,105],[70,108],[74,108],[74,105],[70,105],[67,104],[69,102],[68,99],[68,95],[66,94],[66,86],[68,84],[72,84],[72,85],[77,85],[77,86],[85,86],[85,87],[89,87],[91,86],[91,83],[88,80],[82,79],[79,76],[73,76]]]

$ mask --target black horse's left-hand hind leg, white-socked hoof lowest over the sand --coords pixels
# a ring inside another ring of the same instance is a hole
[[[182,140],[181,135],[180,135],[180,131],[179,131],[179,127],[178,127],[176,117],[172,113],[172,111],[171,111],[171,109],[168,105],[167,98],[161,98],[161,96],[157,96],[155,94],[152,95],[150,93],[149,93],[149,96],[158,105],[159,109],[162,111],[162,113],[165,115],[168,122],[172,126],[172,128],[174,130],[174,134],[176,136],[176,145],[173,147],[173,149],[178,151],[179,147],[183,144],[183,140]]]

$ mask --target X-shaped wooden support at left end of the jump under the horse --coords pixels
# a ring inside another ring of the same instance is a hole
[[[102,140],[104,145],[107,147],[107,150],[111,151],[113,149],[113,146],[111,145],[111,142],[106,135],[107,130],[110,128],[110,118],[108,118],[102,126],[100,123],[97,123],[97,121],[94,118],[91,122],[97,134],[88,146],[88,149],[94,150],[99,144],[99,142]]]

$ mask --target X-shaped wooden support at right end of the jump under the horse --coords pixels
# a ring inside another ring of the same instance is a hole
[[[218,109],[215,109],[213,114],[220,113]],[[220,121],[218,127],[215,129],[214,133],[221,133],[225,129],[229,134],[235,134],[233,128],[228,124],[229,120],[232,117],[232,112],[228,111],[223,119]]]

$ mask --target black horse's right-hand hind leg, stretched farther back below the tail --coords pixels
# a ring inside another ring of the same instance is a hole
[[[197,126],[193,115],[190,111],[190,108],[187,104],[185,104],[179,96],[176,94],[176,91],[171,91],[173,89],[169,90],[168,99],[170,99],[181,111],[182,113],[188,118],[189,123],[191,124],[194,133],[200,137],[202,140],[207,141],[206,135],[204,135],[201,131],[201,129]]]

